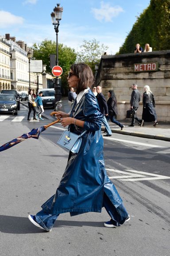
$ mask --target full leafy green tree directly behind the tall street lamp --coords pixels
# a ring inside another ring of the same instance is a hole
[[[46,65],[46,72],[51,74],[50,54],[56,54],[56,42],[52,40],[43,40],[40,44],[33,44],[33,57],[36,60],[42,60],[43,65]],[[58,44],[58,64],[63,69],[62,88],[68,88],[66,77],[70,70],[70,65],[76,60],[77,54],[74,49]]]

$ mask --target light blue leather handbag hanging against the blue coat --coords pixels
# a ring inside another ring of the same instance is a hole
[[[80,135],[77,135],[70,130],[66,130],[62,133],[62,136],[58,140],[58,144],[73,153],[78,153],[81,142],[82,142],[82,135],[87,132],[86,130],[82,132]]]

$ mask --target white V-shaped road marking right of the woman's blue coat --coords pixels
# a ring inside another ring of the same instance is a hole
[[[136,171],[136,170],[120,171],[120,170],[108,169],[108,168],[106,168],[106,170],[109,172],[118,172],[120,174],[126,174],[126,175],[122,175],[122,176],[121,175],[120,176],[109,176],[109,179],[119,179],[119,180],[126,180],[126,181],[170,179],[169,176],[158,175],[158,174],[150,173],[150,172],[140,172],[140,171]],[[148,176],[152,176],[152,177],[148,177]]]

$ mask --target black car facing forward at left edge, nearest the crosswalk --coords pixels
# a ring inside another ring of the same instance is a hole
[[[18,103],[12,94],[0,94],[0,113],[18,114]]]

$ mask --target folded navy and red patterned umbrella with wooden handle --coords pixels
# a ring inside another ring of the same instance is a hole
[[[54,113],[56,113],[56,112],[51,112],[50,115],[52,116]],[[49,126],[58,123],[59,120],[60,119],[57,119],[56,121],[54,121],[50,124],[44,125],[44,126],[39,127],[37,129],[32,129],[31,132],[24,133],[22,136],[19,136],[18,138],[14,139],[14,140],[11,140],[8,143],[5,143],[4,145],[2,145],[0,147],[0,152],[15,146],[16,144],[22,142],[23,140],[27,140],[29,138],[39,139],[39,135],[40,135],[41,132],[45,131],[46,128],[48,128]]]

